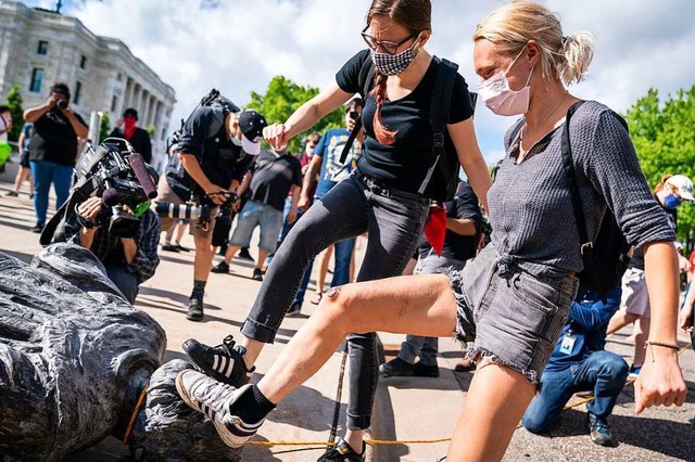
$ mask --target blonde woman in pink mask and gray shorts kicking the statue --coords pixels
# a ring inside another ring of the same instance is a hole
[[[469,342],[466,355],[478,370],[447,460],[501,460],[536,390],[583,269],[560,150],[570,107],[569,141],[589,238],[612,211],[628,241],[645,253],[655,316],[650,360],[635,382],[635,410],[685,400],[675,346],[675,235],[621,123],[601,103],[577,105],[580,100],[565,88],[584,76],[591,36],[564,36],[555,13],[514,2],[485,17],[473,40],[480,98],[497,114],[523,116],[505,137],[507,157],[488,194],[491,244],[460,272],[349,284],[324,297],[257,385],[233,389],[181,372],[179,393],[191,407],[214,410],[227,441],[250,438],[273,406],[314,374],[351,332],[454,334]]]

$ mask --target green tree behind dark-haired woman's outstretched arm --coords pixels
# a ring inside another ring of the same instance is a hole
[[[283,123],[302,104],[318,94],[318,89],[314,87],[302,87],[292,80],[276,76],[268,84],[268,89],[264,94],[251,92],[251,102],[248,107],[253,108],[265,116],[268,124]],[[344,127],[343,112],[337,110],[318,121],[312,131],[320,133],[329,128]],[[296,153],[302,151],[302,138],[294,137],[290,141],[289,151]]]

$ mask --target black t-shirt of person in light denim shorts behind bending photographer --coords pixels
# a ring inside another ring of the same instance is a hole
[[[302,185],[302,166],[291,154],[275,155],[263,150],[251,167],[251,201],[268,204],[282,211],[287,192]]]

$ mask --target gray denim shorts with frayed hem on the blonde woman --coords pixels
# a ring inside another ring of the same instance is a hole
[[[519,267],[503,277],[492,244],[447,275],[456,298],[455,336],[467,344],[466,357],[508,367],[538,384],[579,280],[540,279]]]

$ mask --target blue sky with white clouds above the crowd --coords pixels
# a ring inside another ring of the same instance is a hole
[[[662,97],[695,84],[695,1],[542,1],[557,11],[565,34],[596,39],[589,79],[570,92],[624,112],[649,88]],[[54,1],[26,1],[53,8]],[[501,0],[433,0],[428,50],[460,65],[475,89],[470,37]],[[211,88],[238,104],[283,75],[323,88],[356,51],[369,0],[64,0],[94,34],[123,40],[177,93],[173,120],[186,117]],[[503,153],[513,118],[479,105],[476,127],[488,162]]]

